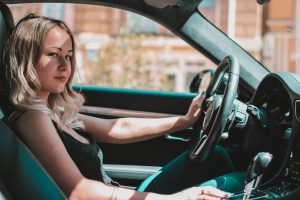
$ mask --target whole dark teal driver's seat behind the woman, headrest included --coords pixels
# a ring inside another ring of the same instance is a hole
[[[14,27],[9,8],[0,1],[0,70],[2,50]],[[1,74],[1,71],[0,71]],[[0,76],[0,199],[66,199],[29,149],[5,124],[9,109],[5,84]]]

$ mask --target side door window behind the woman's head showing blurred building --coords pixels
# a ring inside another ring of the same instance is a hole
[[[120,9],[76,4],[10,6],[16,21],[28,12],[64,20],[77,42],[76,84],[187,92],[213,64],[150,19]]]

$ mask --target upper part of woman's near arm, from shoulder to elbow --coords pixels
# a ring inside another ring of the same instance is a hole
[[[69,195],[83,176],[66,151],[51,119],[40,111],[29,111],[15,125],[26,146]]]

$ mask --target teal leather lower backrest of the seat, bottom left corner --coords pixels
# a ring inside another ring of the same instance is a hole
[[[26,146],[0,120],[0,174],[7,199],[65,199]],[[3,187],[2,186],[2,187]],[[0,184],[1,187],[1,184]]]

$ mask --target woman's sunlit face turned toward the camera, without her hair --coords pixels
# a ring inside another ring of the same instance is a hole
[[[41,83],[38,97],[47,101],[50,93],[61,93],[71,74],[72,40],[63,29],[55,26],[46,36],[36,71]]]

